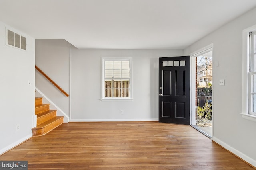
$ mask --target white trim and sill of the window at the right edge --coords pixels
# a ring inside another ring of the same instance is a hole
[[[256,116],[249,114],[249,65],[250,65],[250,39],[249,34],[256,31],[256,25],[243,30],[242,47],[242,112],[244,119],[255,121]]]

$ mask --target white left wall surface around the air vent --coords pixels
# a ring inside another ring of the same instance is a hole
[[[8,27],[26,37],[27,50],[6,46],[6,26],[0,22],[0,154],[32,136],[35,114],[35,39]]]

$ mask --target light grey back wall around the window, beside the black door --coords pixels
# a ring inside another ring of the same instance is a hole
[[[182,50],[72,50],[71,121],[158,120],[158,58]],[[101,101],[101,57],[132,57],[133,101]],[[120,110],[124,114],[120,115]]]

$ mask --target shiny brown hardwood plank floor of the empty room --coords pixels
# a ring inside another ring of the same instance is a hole
[[[63,123],[0,156],[28,169],[252,170],[188,125],[158,122]]]

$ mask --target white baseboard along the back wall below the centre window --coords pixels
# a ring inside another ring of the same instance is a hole
[[[97,121],[158,121],[154,119],[70,119],[70,122],[97,122]]]

